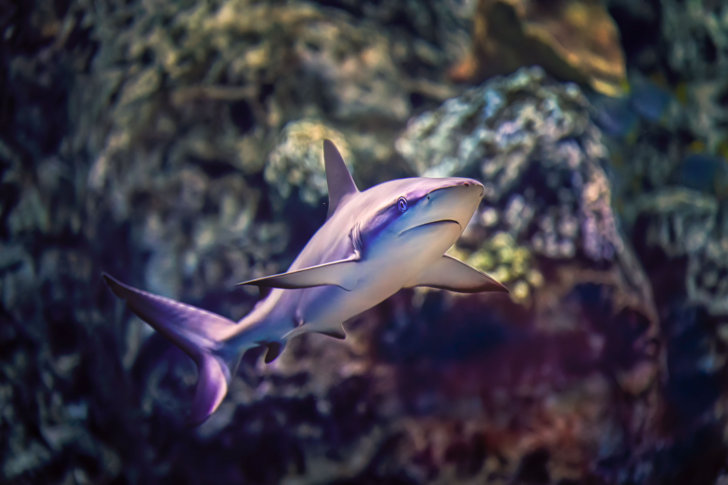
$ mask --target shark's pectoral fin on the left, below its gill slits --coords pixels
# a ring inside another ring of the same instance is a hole
[[[331,284],[340,286],[350,292],[357,282],[357,260],[359,260],[358,252],[345,260],[325,262],[323,265],[311,266],[310,268],[251,279],[235,286],[255,284],[272,288],[296,289]]]

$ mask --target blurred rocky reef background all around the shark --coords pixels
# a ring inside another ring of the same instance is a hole
[[[728,484],[728,2],[0,1],[1,484]],[[241,318],[368,188],[474,177],[451,254],[185,425],[102,271]]]

